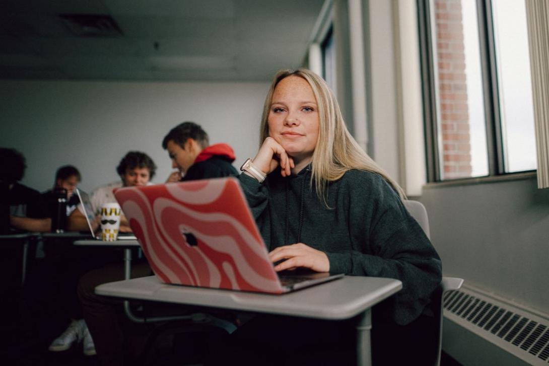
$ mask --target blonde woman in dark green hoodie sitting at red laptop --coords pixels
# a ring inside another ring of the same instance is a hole
[[[374,308],[373,364],[432,364],[438,329],[429,301],[440,258],[402,189],[352,138],[326,82],[305,69],[278,72],[260,135],[239,179],[275,270],[401,280],[402,290]],[[216,361],[350,364],[354,333],[349,321],[257,316]]]

